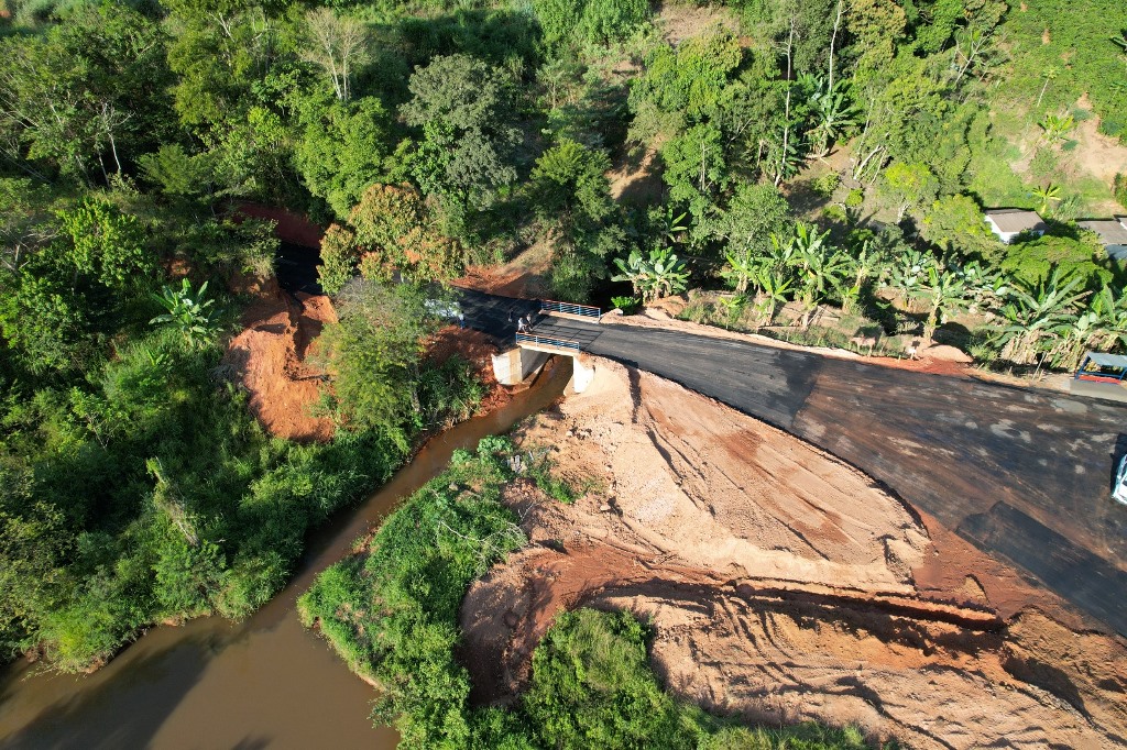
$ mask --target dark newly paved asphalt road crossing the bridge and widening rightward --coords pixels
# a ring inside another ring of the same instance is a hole
[[[536,310],[465,294],[468,324],[503,338],[509,310]],[[834,454],[1127,635],[1127,506],[1109,493],[1127,407],[674,331],[559,319],[535,330]]]

